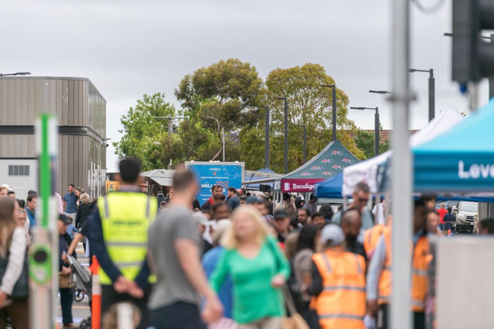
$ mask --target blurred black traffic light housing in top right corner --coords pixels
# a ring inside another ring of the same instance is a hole
[[[494,29],[494,0],[453,0],[453,80],[461,84],[494,76],[494,44],[482,30]]]

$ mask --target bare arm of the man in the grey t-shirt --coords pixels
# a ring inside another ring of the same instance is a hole
[[[185,276],[190,284],[205,299],[202,318],[206,323],[213,323],[220,320],[223,315],[223,306],[216,293],[210,288],[206,279],[206,274],[199,261],[199,248],[197,244],[189,239],[177,239],[174,243],[180,267],[185,272]]]

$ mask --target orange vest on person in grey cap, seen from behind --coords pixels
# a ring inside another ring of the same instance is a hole
[[[323,291],[313,303],[321,328],[364,329],[364,257],[343,249],[329,249],[314,254],[312,259],[323,280]]]

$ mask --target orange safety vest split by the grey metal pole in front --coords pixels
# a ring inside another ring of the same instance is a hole
[[[379,304],[387,304],[391,298],[391,228],[384,230],[383,238],[386,245],[386,258],[379,278]],[[423,236],[417,240],[413,249],[411,310],[414,312],[424,311],[424,301],[428,291],[429,262],[429,241],[426,236]]]

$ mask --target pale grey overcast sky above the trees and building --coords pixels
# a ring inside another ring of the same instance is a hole
[[[438,0],[420,0],[430,5]],[[436,115],[466,110],[451,82],[451,1],[427,15],[412,3],[411,67],[434,69]],[[142,94],[174,88],[186,74],[231,57],[265,79],[275,68],[325,67],[351,106],[378,106],[391,128],[391,107],[369,89],[391,86],[391,0],[3,0],[0,72],[89,78],[107,100],[107,137],[120,139],[120,117]],[[427,123],[427,73],[410,75],[417,101],[411,128]],[[481,100],[487,100],[487,83]],[[361,128],[373,111],[350,110]],[[116,171],[114,148],[107,167]]]

